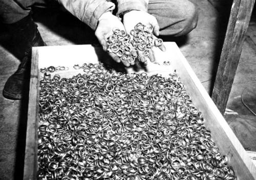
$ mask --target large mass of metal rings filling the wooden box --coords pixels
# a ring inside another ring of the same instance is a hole
[[[37,179],[237,179],[176,74],[83,65],[40,80]]]

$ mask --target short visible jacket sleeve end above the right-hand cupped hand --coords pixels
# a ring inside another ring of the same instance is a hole
[[[141,10],[147,12],[148,0],[118,0],[117,16],[129,10]]]

